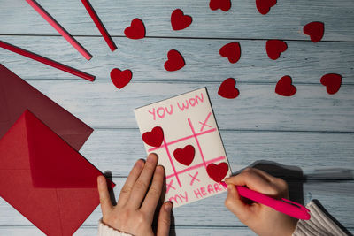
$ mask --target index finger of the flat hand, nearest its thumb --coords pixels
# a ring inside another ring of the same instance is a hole
[[[156,206],[158,205],[159,198],[161,196],[164,176],[165,169],[163,166],[159,165],[155,170],[148,194],[146,194],[146,197],[142,202],[141,209],[143,212],[147,213],[148,216],[151,216],[151,221],[152,217],[154,216]]]

